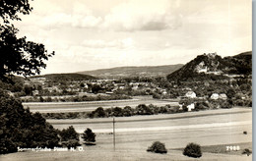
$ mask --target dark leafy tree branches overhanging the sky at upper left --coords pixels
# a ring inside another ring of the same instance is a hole
[[[19,13],[29,15],[31,11],[29,0],[0,1],[0,80],[10,80],[13,74],[39,74],[46,67],[43,61],[54,55],[48,54],[43,44],[27,41],[26,36],[18,38],[19,29],[10,24],[10,20],[21,21]]]

